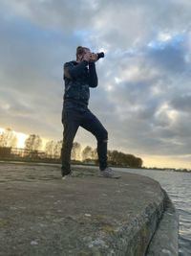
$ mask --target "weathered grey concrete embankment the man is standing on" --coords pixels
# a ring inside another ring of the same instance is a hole
[[[61,180],[56,166],[0,164],[0,255],[137,256],[149,244],[150,255],[166,255],[164,248],[178,252],[177,219],[170,207],[172,218],[164,221],[168,243],[151,254],[168,208],[159,183],[121,175],[101,178],[95,169],[74,167],[73,177]]]

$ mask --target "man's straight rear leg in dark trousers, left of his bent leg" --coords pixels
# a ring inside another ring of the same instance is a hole
[[[74,110],[63,111],[62,123],[64,126],[63,143],[61,149],[61,175],[71,173],[71,151],[73,148],[74,136],[79,127],[77,115]]]

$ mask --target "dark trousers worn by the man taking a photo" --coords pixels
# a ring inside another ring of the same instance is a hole
[[[67,175],[71,172],[71,151],[77,128],[82,127],[96,136],[97,155],[99,169],[102,171],[107,167],[107,141],[108,132],[90,111],[87,106],[67,103],[62,110],[63,144],[61,150],[61,174]]]

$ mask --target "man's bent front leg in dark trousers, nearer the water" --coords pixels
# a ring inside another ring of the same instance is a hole
[[[89,130],[96,136],[99,169],[103,171],[107,168],[107,130],[102,126],[100,121],[89,109],[87,109],[87,111],[85,111],[83,114],[83,119],[80,123],[80,126]]]

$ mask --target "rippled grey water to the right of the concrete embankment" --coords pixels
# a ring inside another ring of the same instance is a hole
[[[191,256],[191,174],[120,168],[115,170],[146,175],[159,181],[179,214],[179,255]]]

